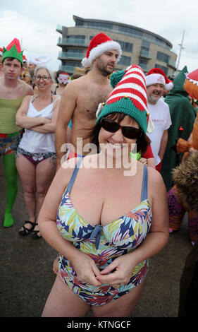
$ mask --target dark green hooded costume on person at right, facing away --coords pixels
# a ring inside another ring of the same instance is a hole
[[[194,107],[190,103],[188,93],[183,88],[185,73],[187,73],[186,66],[173,80],[173,89],[165,98],[165,102],[167,102],[170,109],[172,121],[172,126],[168,129],[168,143],[161,167],[161,175],[167,191],[173,186],[171,171],[174,167],[180,165],[183,156],[183,153],[175,153],[172,146],[174,146],[175,140],[178,138],[183,138],[184,140],[189,138],[195,120]]]

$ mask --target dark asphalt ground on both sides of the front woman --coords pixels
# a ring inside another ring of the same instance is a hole
[[[54,283],[52,263],[56,251],[44,239],[33,240],[18,235],[20,226],[27,219],[20,181],[13,208],[15,224],[8,229],[3,227],[6,182],[2,159],[0,188],[0,316],[40,317]],[[133,317],[178,315],[180,276],[190,249],[185,219],[180,232],[171,235],[166,248],[149,260],[144,295]]]

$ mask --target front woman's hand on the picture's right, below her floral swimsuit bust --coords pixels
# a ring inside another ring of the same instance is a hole
[[[109,266],[97,275],[97,280],[109,285],[123,285],[130,281],[132,271],[136,266],[132,259],[132,254],[125,254],[115,259]],[[115,270],[115,272],[112,272]]]

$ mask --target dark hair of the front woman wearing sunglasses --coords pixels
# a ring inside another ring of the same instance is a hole
[[[125,118],[126,114],[124,113],[111,113],[106,115],[111,120],[117,120],[118,124]],[[135,119],[131,118],[131,121],[135,121]],[[99,152],[99,131],[101,129],[100,121],[95,124],[94,128],[89,134],[90,142],[94,143],[97,146],[98,152]],[[142,132],[142,136],[140,138],[137,138],[137,152],[145,153],[147,151],[147,148],[149,144],[151,143],[149,137],[144,134],[144,131]]]

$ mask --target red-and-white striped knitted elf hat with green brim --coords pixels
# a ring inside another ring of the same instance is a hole
[[[111,113],[124,113],[135,119],[144,133],[153,131],[147,109],[144,71],[137,65],[129,66],[123,71],[116,71],[111,75],[111,85],[114,89],[108,100],[99,105],[97,121]]]

